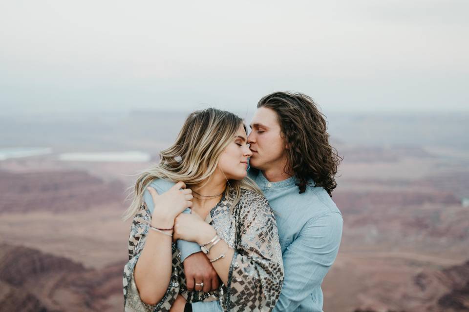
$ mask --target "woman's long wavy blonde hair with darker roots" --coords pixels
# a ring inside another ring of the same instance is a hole
[[[233,142],[243,120],[233,113],[208,108],[195,111],[187,117],[179,135],[168,149],[161,151],[158,164],[144,170],[132,187],[132,203],[124,213],[124,220],[133,217],[143,201],[146,187],[154,179],[163,178],[188,185],[200,184],[213,175],[225,148]],[[234,207],[241,197],[241,189],[261,193],[248,177],[230,180],[224,195],[235,194]],[[234,191],[233,193],[231,191]]]

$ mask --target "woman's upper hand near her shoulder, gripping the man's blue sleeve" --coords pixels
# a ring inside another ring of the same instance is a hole
[[[192,207],[192,190],[186,189],[184,182],[177,182],[168,192],[158,195],[152,187],[148,187],[153,198],[154,209],[151,225],[157,228],[171,228],[174,218],[186,208]]]

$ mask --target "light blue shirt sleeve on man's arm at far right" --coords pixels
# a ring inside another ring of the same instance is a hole
[[[295,311],[313,289],[320,287],[339,251],[342,224],[340,213],[322,215],[308,221],[288,246],[283,254],[285,279],[275,312]]]

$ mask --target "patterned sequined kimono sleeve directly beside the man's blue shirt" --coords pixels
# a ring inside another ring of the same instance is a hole
[[[277,224],[267,199],[246,193],[235,211],[237,245],[220,303],[224,311],[271,311],[283,282]]]

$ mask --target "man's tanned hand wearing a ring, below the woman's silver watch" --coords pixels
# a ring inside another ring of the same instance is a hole
[[[189,291],[194,289],[195,283],[200,284],[201,282],[204,283],[203,289],[200,286],[195,286],[196,291],[210,292],[218,289],[218,274],[205,254],[202,252],[191,254],[184,260],[183,264]]]

